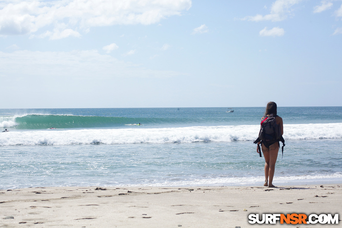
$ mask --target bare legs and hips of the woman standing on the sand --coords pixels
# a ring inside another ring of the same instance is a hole
[[[264,145],[261,147],[262,152],[265,158],[265,183],[264,186],[268,186],[270,188],[274,188],[275,186],[272,184],[275,165],[278,157],[279,151],[279,143],[273,143],[269,146],[269,149]]]

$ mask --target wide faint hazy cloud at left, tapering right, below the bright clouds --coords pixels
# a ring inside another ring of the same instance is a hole
[[[14,81],[24,78],[55,78],[78,80],[113,77],[173,77],[183,75],[174,71],[155,71],[119,61],[116,58],[100,54],[96,50],[70,52],[41,52],[19,50],[12,53],[0,51],[0,77]],[[18,67],[20,63],[20,67]]]

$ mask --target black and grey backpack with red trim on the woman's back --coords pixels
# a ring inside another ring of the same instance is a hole
[[[264,119],[261,121],[261,128],[259,131],[259,137],[257,140],[254,141],[254,143],[258,143],[260,141],[265,141],[265,142],[277,142],[281,141],[282,142],[282,147],[281,147],[281,154],[284,154],[284,147],[285,147],[285,140],[281,135],[281,130],[280,126],[276,123],[276,117],[268,117],[264,116]],[[258,144],[259,147],[259,155],[261,157],[261,149],[260,145]],[[282,156],[281,156],[282,158]]]

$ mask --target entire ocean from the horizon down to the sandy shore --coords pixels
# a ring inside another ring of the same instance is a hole
[[[0,189],[262,186],[265,107],[230,108],[0,109]],[[342,183],[342,107],[278,115],[274,185]]]

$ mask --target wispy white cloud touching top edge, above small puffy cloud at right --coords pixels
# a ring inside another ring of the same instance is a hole
[[[277,0],[273,2],[271,7],[270,14],[265,16],[256,15],[256,16],[247,16],[242,18],[242,20],[247,21],[284,21],[289,14],[291,14],[291,7],[295,4],[298,4],[302,0]]]

